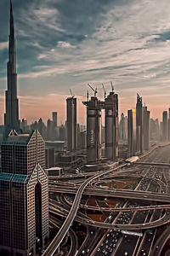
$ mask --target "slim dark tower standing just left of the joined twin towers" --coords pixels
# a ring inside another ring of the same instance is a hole
[[[67,125],[67,148],[69,151],[77,149],[77,98],[66,99],[66,125]]]

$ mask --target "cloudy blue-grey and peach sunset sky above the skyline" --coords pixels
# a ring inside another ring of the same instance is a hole
[[[0,1],[0,122],[8,61],[9,1]],[[20,118],[59,112],[65,120],[69,89],[82,100],[87,84],[107,92],[111,81],[120,112],[143,96],[151,117],[170,107],[169,0],[13,0]]]

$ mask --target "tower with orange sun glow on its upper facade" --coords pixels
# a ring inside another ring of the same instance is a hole
[[[127,111],[127,157],[136,153],[136,109]]]

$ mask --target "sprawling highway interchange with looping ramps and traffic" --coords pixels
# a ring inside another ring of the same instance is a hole
[[[77,236],[76,224],[84,225],[87,235],[81,246],[78,237],[71,239],[72,256],[161,255],[170,236],[169,151],[170,146],[152,150],[140,159],[148,165],[123,163],[105,172],[51,177],[49,212],[52,223],[57,218],[62,224],[42,255],[61,255],[59,247],[61,253],[68,232]],[[129,185],[131,179],[133,185]],[[116,201],[116,206],[108,201]],[[98,215],[103,219],[97,219]]]

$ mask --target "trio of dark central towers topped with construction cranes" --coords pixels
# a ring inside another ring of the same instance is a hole
[[[67,103],[67,148],[70,152],[77,150],[77,98],[66,99]],[[88,163],[96,163],[102,157],[102,122],[101,110],[105,109],[105,157],[116,160],[118,157],[118,96],[112,91],[99,101],[92,96],[87,102],[87,157]],[[84,131],[83,135],[84,135]],[[81,133],[80,133],[81,135]],[[80,139],[80,138],[79,138]]]

